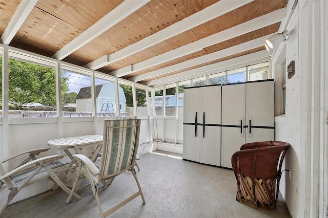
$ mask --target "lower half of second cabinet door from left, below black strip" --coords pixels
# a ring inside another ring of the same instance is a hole
[[[221,129],[219,126],[205,126],[204,138],[201,127],[200,163],[220,166]]]

